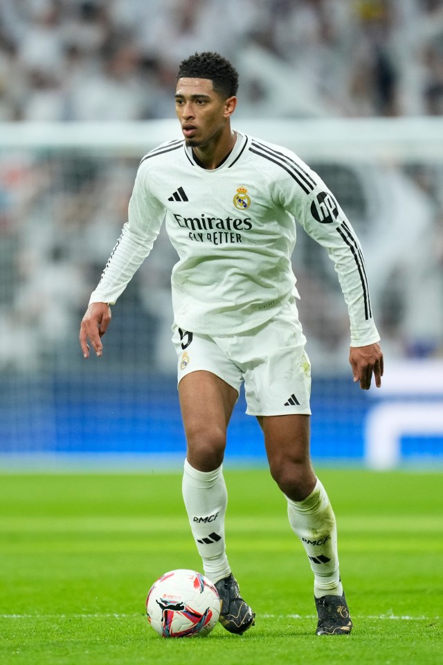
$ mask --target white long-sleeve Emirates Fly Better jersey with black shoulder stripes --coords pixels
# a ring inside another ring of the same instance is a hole
[[[163,220],[179,255],[172,303],[183,330],[250,330],[298,295],[291,266],[297,220],[334,261],[351,345],[379,340],[359,240],[325,183],[290,150],[237,132],[233,151],[214,170],[199,166],[183,140],[148,153],[128,221],[90,303],[116,302]]]

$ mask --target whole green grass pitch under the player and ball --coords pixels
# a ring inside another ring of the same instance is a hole
[[[230,564],[256,625],[162,639],[151,583],[201,569],[179,473],[0,476],[2,665],[443,662],[443,479],[317,470],[338,522],[354,630],[316,637],[312,576],[267,470],[226,470]]]

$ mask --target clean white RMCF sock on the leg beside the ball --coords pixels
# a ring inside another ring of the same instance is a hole
[[[224,539],[228,493],[222,467],[209,472],[197,471],[186,459],[182,489],[204,574],[215,583],[230,574]]]

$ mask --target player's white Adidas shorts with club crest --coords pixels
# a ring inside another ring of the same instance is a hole
[[[172,326],[179,357],[179,382],[205,370],[240,391],[244,382],[246,414],[311,414],[311,364],[298,320],[295,297],[261,326],[237,335],[201,335]]]

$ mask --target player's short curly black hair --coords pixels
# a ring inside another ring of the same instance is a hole
[[[179,78],[208,78],[213,82],[214,90],[226,98],[234,97],[238,88],[238,72],[226,57],[204,51],[195,53],[179,65]]]

